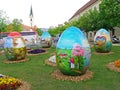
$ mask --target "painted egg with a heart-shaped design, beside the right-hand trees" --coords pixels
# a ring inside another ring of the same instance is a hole
[[[110,38],[110,33],[107,30],[100,29],[97,31],[94,37],[94,47],[96,52],[100,53],[110,52],[112,42]]]

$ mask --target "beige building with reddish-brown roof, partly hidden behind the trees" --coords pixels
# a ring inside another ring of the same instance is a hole
[[[96,8],[99,10],[99,4],[102,0],[90,0],[87,2],[83,7],[81,7],[78,11],[75,12],[75,14],[69,19],[69,22],[77,20],[80,16],[82,16],[84,13],[86,13],[89,10],[93,10]],[[120,28],[115,28],[115,35],[120,38]],[[88,32],[87,37],[89,41],[93,41],[94,36],[96,32]],[[112,36],[112,32],[110,32]]]

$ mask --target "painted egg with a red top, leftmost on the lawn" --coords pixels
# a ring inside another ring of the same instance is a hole
[[[11,32],[5,39],[4,51],[8,60],[21,60],[26,57],[25,41],[18,32]]]

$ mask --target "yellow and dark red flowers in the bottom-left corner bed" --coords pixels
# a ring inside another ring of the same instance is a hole
[[[18,79],[2,76],[0,77],[0,90],[17,90],[22,82]]]

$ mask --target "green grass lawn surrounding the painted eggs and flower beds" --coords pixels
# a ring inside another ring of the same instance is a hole
[[[120,46],[112,47],[111,55],[95,55],[92,48],[89,70],[93,78],[81,82],[61,81],[51,77],[57,67],[48,66],[45,60],[51,56],[55,48],[47,50],[46,54],[27,56],[27,62],[5,64],[4,55],[0,56],[0,73],[9,75],[31,85],[31,90],[120,90],[120,73],[110,71],[106,65],[120,59]]]

